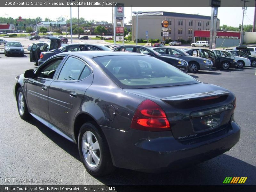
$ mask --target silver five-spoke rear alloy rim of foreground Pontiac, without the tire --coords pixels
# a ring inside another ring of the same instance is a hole
[[[100,163],[100,146],[95,135],[87,131],[82,138],[82,151],[87,164],[95,168]]]

